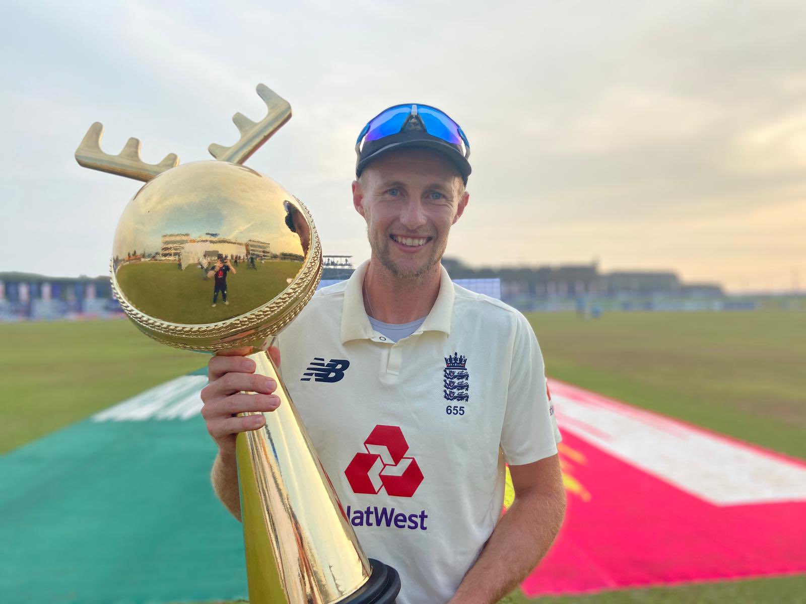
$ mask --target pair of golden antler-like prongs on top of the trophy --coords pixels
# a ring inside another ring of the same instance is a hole
[[[291,105],[267,85],[257,85],[257,93],[268,108],[268,114],[260,122],[252,122],[241,113],[232,116],[232,121],[241,133],[241,138],[232,147],[213,143],[208,147],[215,159],[230,163],[243,163],[271,138],[280,127],[291,119]],[[103,124],[95,122],[89,126],[84,140],[76,150],[76,161],[84,168],[110,172],[135,180],[148,182],[166,170],[179,165],[176,153],[169,153],[160,163],[145,163],[140,158],[140,141],[131,138],[119,155],[109,155],[101,151]]]

